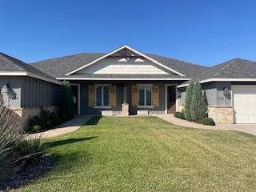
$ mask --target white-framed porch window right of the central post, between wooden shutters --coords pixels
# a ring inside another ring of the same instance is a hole
[[[150,85],[138,86],[138,105],[139,106],[152,106],[151,92],[152,92],[152,86]]]

